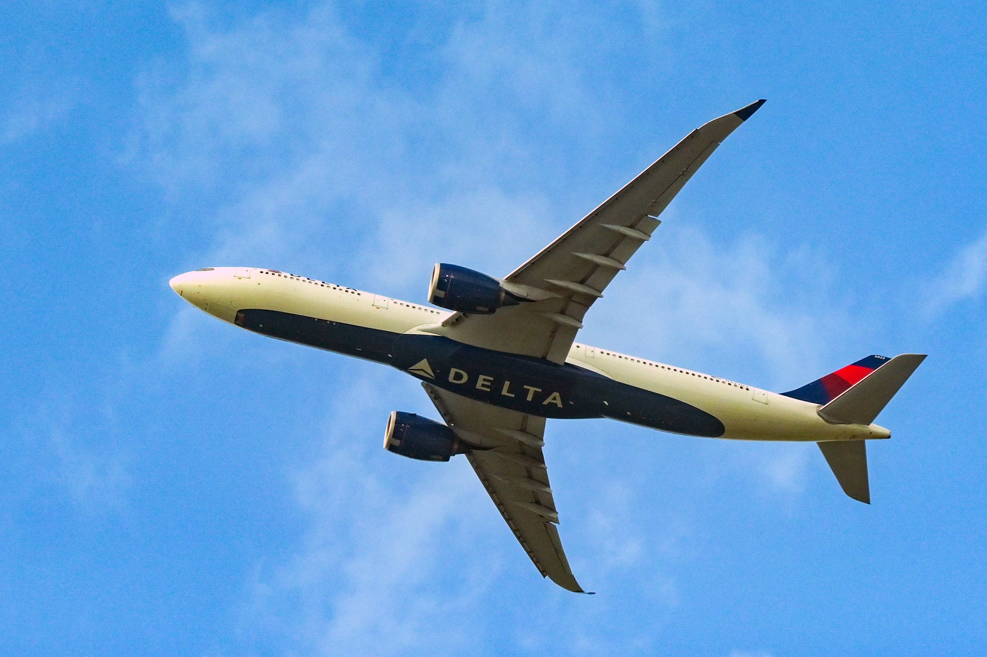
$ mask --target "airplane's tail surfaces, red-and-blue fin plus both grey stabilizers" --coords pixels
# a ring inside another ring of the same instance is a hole
[[[783,393],[796,400],[818,403],[816,411],[836,424],[871,424],[925,355],[904,353],[894,358],[868,356],[801,388]],[[843,492],[871,503],[867,472],[867,443],[863,440],[816,443],[836,475]]]

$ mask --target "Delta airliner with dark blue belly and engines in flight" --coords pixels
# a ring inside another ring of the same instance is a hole
[[[608,417],[689,436],[812,441],[844,492],[870,504],[866,441],[891,435],[873,420],[926,357],[872,355],[775,394],[574,341],[586,311],[651,239],[675,194],[764,103],[693,130],[503,278],[436,264],[434,307],[258,267],[204,267],[170,284],[237,327],[417,378],[443,421],[393,411],[384,449],[422,461],[465,455],[542,576],[585,593],[556,527],[542,452],[547,419]]]

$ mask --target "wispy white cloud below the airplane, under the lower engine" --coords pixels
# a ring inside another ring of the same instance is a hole
[[[311,529],[290,562],[259,578],[247,622],[279,626],[306,654],[456,654],[472,643],[466,610],[495,572],[474,569],[473,581],[470,569],[450,572],[483,534],[463,510],[486,493],[463,459],[408,462],[354,440],[378,410],[380,385],[363,378],[330,412],[322,458],[296,477]],[[436,590],[449,577],[455,585]],[[435,620],[449,618],[456,623],[436,631]]]

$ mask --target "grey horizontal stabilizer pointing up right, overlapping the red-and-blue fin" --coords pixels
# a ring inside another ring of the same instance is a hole
[[[819,408],[819,415],[837,424],[870,424],[925,358],[924,354],[918,353],[895,356],[845,393]],[[825,454],[825,450],[823,453]]]

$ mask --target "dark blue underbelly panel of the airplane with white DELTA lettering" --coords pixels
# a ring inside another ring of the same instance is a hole
[[[693,436],[723,434],[722,422],[700,408],[568,363],[483,349],[440,335],[392,333],[277,311],[242,310],[236,324],[386,363],[457,395],[532,415],[611,417]]]

